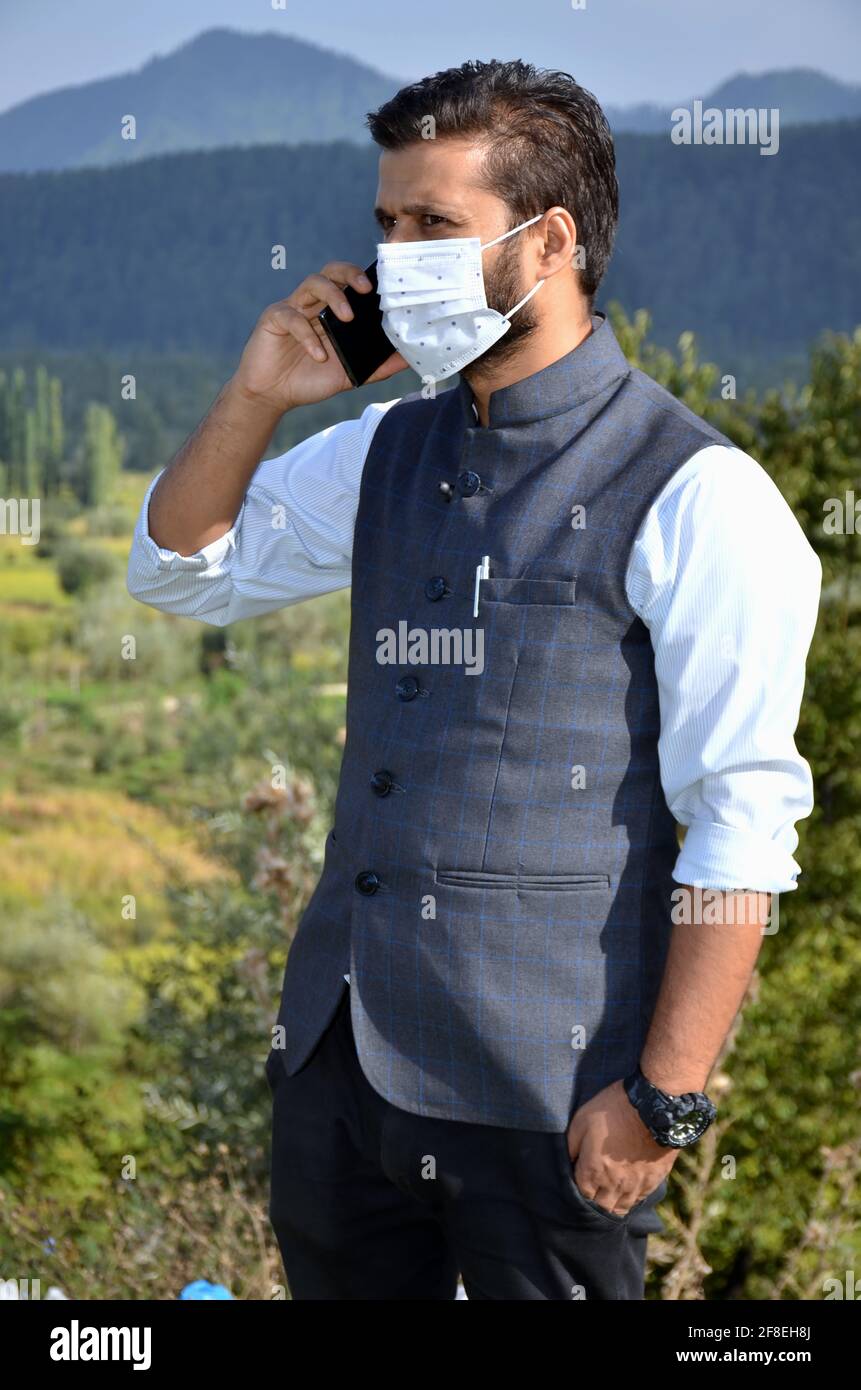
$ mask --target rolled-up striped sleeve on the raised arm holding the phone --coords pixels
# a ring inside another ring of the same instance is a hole
[[[140,505],[128,592],[163,613],[225,627],[346,588],[364,459],[394,404],[370,404],[260,463],[232,527],[195,555],[164,549],[149,532],[161,470]]]

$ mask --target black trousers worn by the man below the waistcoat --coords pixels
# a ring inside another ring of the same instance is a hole
[[[643,1298],[666,1180],[625,1216],[577,1188],[565,1133],[412,1115],[356,1056],[345,986],[307,1063],[271,1051],[268,1215],[302,1298]]]

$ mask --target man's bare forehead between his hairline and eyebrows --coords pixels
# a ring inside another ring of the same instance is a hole
[[[477,207],[498,199],[480,188],[485,147],[476,140],[416,140],[401,150],[383,150],[377,204],[398,211],[408,203]]]

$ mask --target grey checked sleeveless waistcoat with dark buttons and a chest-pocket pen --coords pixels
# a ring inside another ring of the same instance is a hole
[[[648,507],[709,443],[729,441],[631,370],[602,316],[494,392],[487,428],[463,381],[383,417],[334,828],[278,1013],[288,1073],[345,973],[362,1068],[405,1111],[562,1130],[634,1068],[677,841],[625,574]]]

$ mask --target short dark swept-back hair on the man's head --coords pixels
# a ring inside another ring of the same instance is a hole
[[[616,154],[598,101],[569,72],[515,60],[470,61],[402,88],[367,115],[376,143],[401,150],[421,139],[488,140],[483,186],[509,206],[513,222],[565,207],[584,250],[580,289],[593,302],[613,249],[619,221]]]

